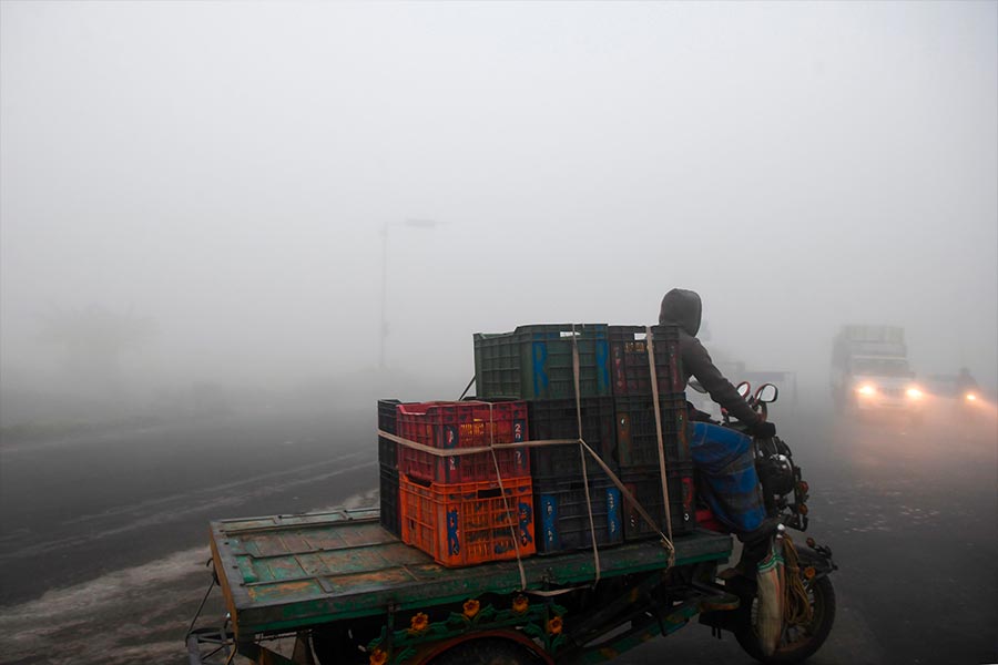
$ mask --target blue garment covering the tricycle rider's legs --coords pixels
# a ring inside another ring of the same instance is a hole
[[[693,423],[690,452],[707,485],[714,516],[739,534],[758,529],[766,512],[752,458],[752,439],[710,422]]]

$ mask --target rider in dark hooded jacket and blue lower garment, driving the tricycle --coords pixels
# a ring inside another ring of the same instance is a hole
[[[745,424],[752,436],[775,436],[775,426],[752,410],[696,339],[701,311],[700,296],[695,291],[674,288],[662,298],[659,324],[679,326],[683,379],[689,382],[691,376],[695,377],[711,399]],[[703,422],[697,413],[692,413],[691,420],[696,422],[692,428],[690,452],[702,481],[707,485],[705,498],[714,515],[750,546],[767,542],[765,536],[770,535],[771,529],[764,524],[765,510],[758,490],[752,440],[731,428]]]

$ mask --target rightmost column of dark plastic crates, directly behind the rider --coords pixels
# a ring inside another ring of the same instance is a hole
[[[610,326],[609,337],[620,479],[660,529],[665,531],[665,501],[659,467],[655,397],[646,329],[640,326]],[[653,327],[652,350],[672,532],[681,534],[692,531],[696,520],[679,328]],[[631,541],[653,536],[656,531],[625,501],[623,533],[624,540]]]

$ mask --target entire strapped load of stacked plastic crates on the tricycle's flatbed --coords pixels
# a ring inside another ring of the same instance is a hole
[[[537,325],[475,336],[477,398],[380,400],[378,427],[411,442],[378,440],[384,526],[448,566],[588,550],[593,540],[603,548],[654,538],[669,518],[673,534],[691,531],[693,464],[679,330],[655,326],[652,341],[656,391],[645,328]],[[580,427],[599,462],[571,443],[516,446],[576,440]]]

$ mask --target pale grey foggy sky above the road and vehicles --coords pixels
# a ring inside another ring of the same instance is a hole
[[[996,182],[995,2],[6,1],[0,371],[90,305],[132,380],[370,370],[389,224],[393,368],[681,286],[751,367],[894,324],[994,388]]]

